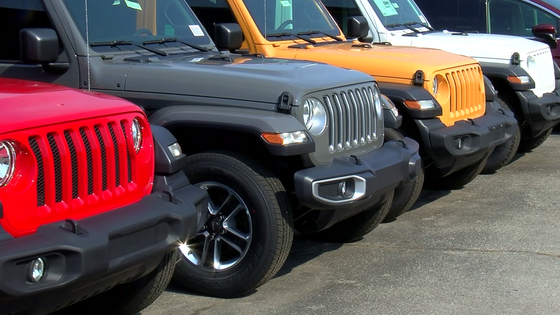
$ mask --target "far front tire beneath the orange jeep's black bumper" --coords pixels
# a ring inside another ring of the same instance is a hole
[[[473,165],[466,166],[466,168],[444,177],[426,178],[424,180],[424,188],[432,190],[461,189],[482,172],[487,159],[484,158]]]

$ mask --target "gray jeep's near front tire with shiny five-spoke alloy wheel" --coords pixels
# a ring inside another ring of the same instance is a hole
[[[255,161],[228,152],[188,158],[185,173],[209,194],[207,222],[179,247],[174,281],[214,297],[249,293],[286,261],[293,219],[286,189]]]

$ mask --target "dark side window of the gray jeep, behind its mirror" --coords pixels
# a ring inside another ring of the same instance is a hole
[[[40,0],[0,1],[2,41],[0,60],[20,61],[20,30],[28,27],[52,28]]]

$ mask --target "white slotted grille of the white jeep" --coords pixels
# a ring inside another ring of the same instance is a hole
[[[552,64],[552,54],[549,48],[529,53],[535,59],[536,69],[527,69],[527,61],[521,62],[521,68],[529,73],[535,81],[535,88],[532,89],[537,97],[543,96],[544,93],[554,91],[556,83],[554,82],[554,67]]]

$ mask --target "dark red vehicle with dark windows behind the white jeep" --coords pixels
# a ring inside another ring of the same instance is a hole
[[[503,34],[538,39],[560,62],[560,0],[416,0],[437,30]]]

